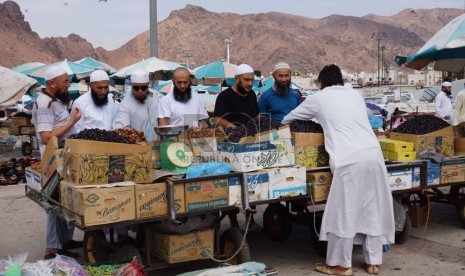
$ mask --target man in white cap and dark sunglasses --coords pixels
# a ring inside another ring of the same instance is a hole
[[[149,91],[149,73],[135,69],[131,73],[132,92],[125,95],[113,119],[113,129],[132,128],[145,132],[148,141],[157,140],[158,97]]]

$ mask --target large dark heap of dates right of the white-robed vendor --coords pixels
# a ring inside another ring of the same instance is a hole
[[[450,126],[446,121],[434,115],[418,115],[402,123],[394,132],[423,135]]]

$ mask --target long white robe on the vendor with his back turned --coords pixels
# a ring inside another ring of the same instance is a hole
[[[327,87],[307,97],[283,123],[312,118],[323,128],[333,173],[320,240],[327,240],[328,233],[341,238],[355,238],[360,233],[393,243],[392,194],[363,98],[352,88]],[[354,243],[361,241],[355,239]]]

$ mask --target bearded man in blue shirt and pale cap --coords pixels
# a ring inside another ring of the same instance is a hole
[[[258,99],[261,114],[270,114],[271,119],[281,122],[291,110],[300,104],[297,90],[291,88],[291,67],[279,62],[273,69],[274,85]]]

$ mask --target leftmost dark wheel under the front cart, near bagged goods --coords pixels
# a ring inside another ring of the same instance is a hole
[[[87,262],[95,263],[108,260],[107,239],[103,230],[84,233],[84,256]]]

